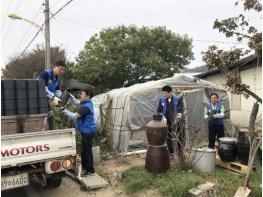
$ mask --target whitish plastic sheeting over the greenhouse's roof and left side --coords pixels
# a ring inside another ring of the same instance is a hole
[[[174,94],[179,89],[186,90],[207,87],[206,92],[209,92],[210,89],[218,89],[211,82],[180,75],[163,80],[135,84],[126,88],[114,89],[95,96],[92,100],[95,107],[97,130],[98,132],[106,130],[109,134],[108,136],[111,138],[113,149],[127,150],[128,139],[133,137],[135,131],[143,130],[145,125],[152,120],[152,115],[156,113],[159,99],[162,96],[161,89],[164,85],[173,87]],[[224,90],[221,91],[225,92]],[[227,97],[226,92],[222,94]],[[203,103],[203,97],[200,99]],[[226,103],[229,107],[228,100]],[[199,108],[203,108],[203,104],[202,106],[199,105]],[[203,112],[200,116],[203,116]]]

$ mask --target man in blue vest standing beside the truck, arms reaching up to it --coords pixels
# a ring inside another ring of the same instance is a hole
[[[79,104],[77,112],[71,112],[65,107],[61,107],[64,114],[75,122],[76,130],[80,132],[82,139],[82,169],[84,175],[93,176],[95,170],[93,167],[93,155],[92,155],[92,140],[95,135],[95,118],[94,108],[91,98],[93,97],[92,90],[82,90],[80,94],[80,101],[74,96],[71,96],[71,103]]]

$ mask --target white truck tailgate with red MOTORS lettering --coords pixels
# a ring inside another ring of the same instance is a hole
[[[74,128],[2,136],[1,167],[3,169],[62,156],[75,156],[75,137]]]

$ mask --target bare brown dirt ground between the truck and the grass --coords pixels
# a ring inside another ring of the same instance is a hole
[[[96,166],[96,172],[110,184],[107,187],[98,190],[82,191],[78,183],[69,177],[64,177],[61,186],[58,188],[43,189],[39,184],[35,183],[25,188],[2,192],[2,197],[158,197],[158,192],[154,190],[146,190],[133,195],[127,195],[123,191],[121,172],[132,166],[144,165],[144,162],[145,158],[142,155],[121,156],[101,162]]]

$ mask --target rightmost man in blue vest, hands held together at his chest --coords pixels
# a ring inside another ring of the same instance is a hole
[[[209,96],[210,103],[204,108],[204,118],[208,120],[208,148],[215,148],[216,137],[225,137],[224,133],[224,105],[218,102],[218,94],[212,93]]]

